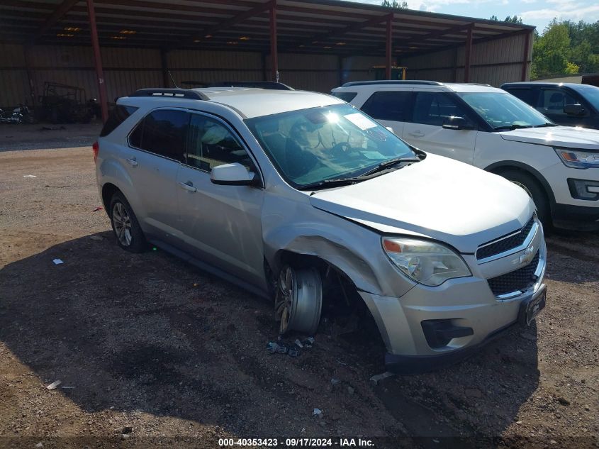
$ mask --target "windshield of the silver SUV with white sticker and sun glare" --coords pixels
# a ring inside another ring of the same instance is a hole
[[[407,143],[347,104],[250,118],[245,123],[276,170],[298,189],[358,177],[388,160],[415,157]]]

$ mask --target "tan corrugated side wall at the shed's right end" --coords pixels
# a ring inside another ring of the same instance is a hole
[[[521,81],[525,40],[526,36],[519,34],[472,45],[470,82],[498,87],[504,82]],[[532,39],[530,49],[529,59]],[[401,65],[408,67],[408,79],[463,82],[464,47],[404,57]],[[529,71],[530,64],[527,64],[527,73]]]

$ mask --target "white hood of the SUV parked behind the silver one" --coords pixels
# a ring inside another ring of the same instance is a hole
[[[573,126],[550,126],[547,128],[522,128],[499,133],[505,140],[553,145],[565,148],[599,149],[599,131]]]

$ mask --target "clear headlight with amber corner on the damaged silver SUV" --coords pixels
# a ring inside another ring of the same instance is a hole
[[[439,243],[391,237],[382,241],[391,262],[420,284],[436,287],[447,279],[472,275],[459,255]]]

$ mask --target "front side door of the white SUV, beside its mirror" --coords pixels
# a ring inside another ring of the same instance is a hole
[[[442,125],[445,118],[459,116],[474,123],[476,128],[476,119],[472,115],[450,92],[414,91],[413,115],[410,123],[403,126],[401,138],[420,150],[471,164],[478,131],[444,129]]]

